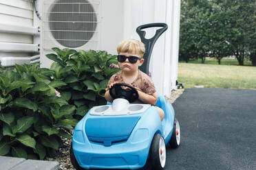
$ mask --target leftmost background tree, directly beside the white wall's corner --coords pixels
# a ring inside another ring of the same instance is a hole
[[[181,1],[180,58],[186,62],[200,58],[204,63],[209,53],[209,7],[206,0]]]

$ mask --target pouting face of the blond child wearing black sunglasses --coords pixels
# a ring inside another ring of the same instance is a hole
[[[138,53],[132,52],[132,53],[119,53],[120,56],[136,56],[140,58],[140,60],[137,60],[136,63],[131,63],[129,62],[128,58],[125,60],[125,62],[118,62],[119,67],[122,71],[127,72],[127,73],[132,73],[135,71],[138,71],[138,67],[141,66],[144,62],[144,59],[141,58]]]

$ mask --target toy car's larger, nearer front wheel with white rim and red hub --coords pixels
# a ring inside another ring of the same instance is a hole
[[[164,169],[166,158],[164,138],[160,134],[155,134],[149,151],[149,162],[151,162],[152,168]]]

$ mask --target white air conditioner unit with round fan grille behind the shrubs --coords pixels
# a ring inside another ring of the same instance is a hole
[[[43,67],[51,64],[45,54],[51,53],[52,47],[97,50],[100,37],[99,14],[100,0],[44,0]]]

